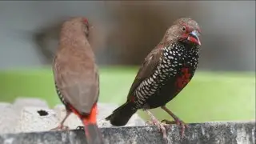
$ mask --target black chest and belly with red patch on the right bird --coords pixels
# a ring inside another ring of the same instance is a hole
[[[151,107],[158,107],[173,99],[191,80],[198,67],[198,54],[186,50],[164,50],[156,70],[154,94],[147,100]]]

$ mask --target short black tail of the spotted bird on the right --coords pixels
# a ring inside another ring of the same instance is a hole
[[[109,120],[113,126],[125,126],[136,111],[137,109],[134,108],[134,103],[126,102],[105,119]]]

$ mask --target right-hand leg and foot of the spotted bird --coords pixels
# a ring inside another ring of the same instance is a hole
[[[174,121],[169,120],[162,120],[161,122],[166,122],[166,124],[177,124],[178,126],[182,126],[182,138],[184,137],[185,128],[188,128],[185,122],[183,122],[180,118],[178,118],[174,113],[172,113],[169,109],[167,109],[166,106],[161,106],[162,110],[165,110],[172,118],[174,118]]]

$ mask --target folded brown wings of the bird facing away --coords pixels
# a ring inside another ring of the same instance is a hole
[[[90,114],[98,101],[98,68],[90,58],[54,58],[54,79],[65,102],[80,114]]]

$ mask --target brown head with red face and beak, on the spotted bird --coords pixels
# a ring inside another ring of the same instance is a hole
[[[180,42],[186,42],[201,46],[200,41],[201,30],[198,22],[192,18],[179,18],[173,23],[173,26],[166,32],[167,39],[176,39]]]

